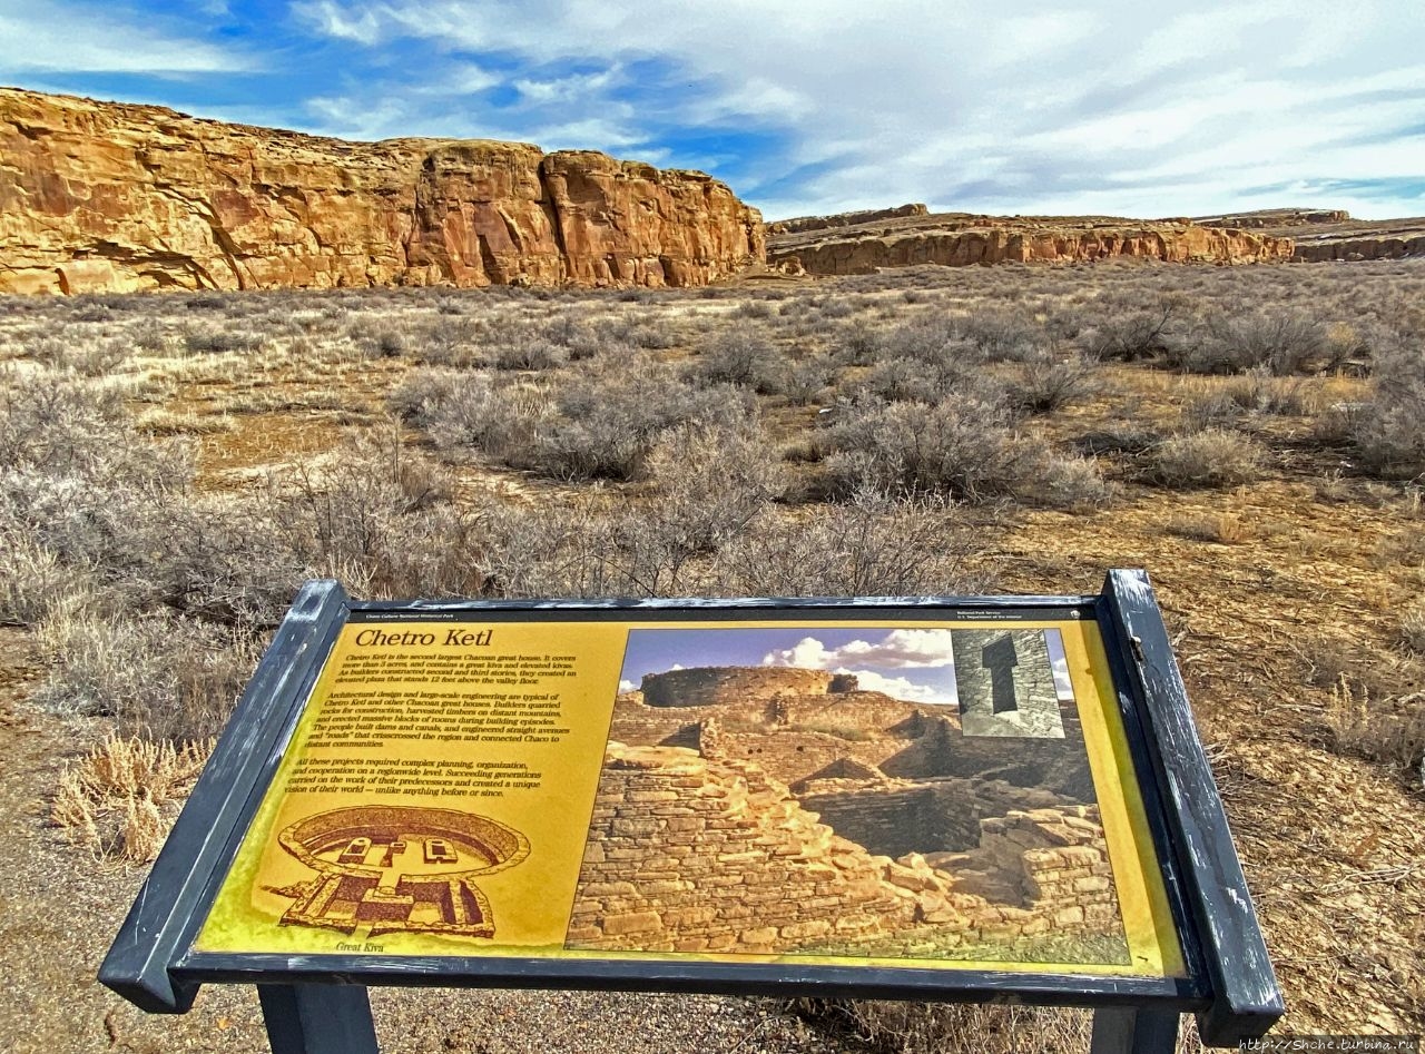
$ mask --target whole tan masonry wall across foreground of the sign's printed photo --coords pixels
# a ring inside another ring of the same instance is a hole
[[[982,823],[995,836],[988,849],[946,855],[939,866],[922,853],[892,860],[838,836],[758,765],[611,742],[567,941],[852,954],[903,946],[939,956],[1109,933],[1112,883],[1104,900],[1102,883],[1080,882],[1107,866],[1093,815],[1083,806],[1010,813],[1002,828]],[[992,902],[975,882],[1010,893]]]

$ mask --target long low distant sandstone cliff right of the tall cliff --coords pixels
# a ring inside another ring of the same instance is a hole
[[[916,264],[968,266],[1119,256],[1254,264],[1291,259],[1292,242],[1240,228],[1200,226],[1186,219],[1133,224],[931,215],[835,231],[779,234],[768,249],[774,266],[795,259],[812,275],[862,275]]]

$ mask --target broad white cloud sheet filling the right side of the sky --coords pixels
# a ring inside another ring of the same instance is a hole
[[[534,114],[516,138],[549,130],[569,145],[627,150],[667,127],[758,131],[781,148],[742,160],[737,189],[770,218],[901,201],[1178,215],[1268,204],[1253,188],[1318,187],[1320,198],[1274,201],[1334,204],[1340,181],[1425,177],[1418,4],[1026,0],[1007,16],[969,0],[321,0],[296,10],[319,33],[372,48],[405,37],[436,54],[523,63],[524,103],[566,113]],[[665,83],[630,83],[634,68]]]

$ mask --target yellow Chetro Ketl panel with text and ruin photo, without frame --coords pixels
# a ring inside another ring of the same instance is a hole
[[[195,953],[1186,977],[1076,607],[352,610]]]

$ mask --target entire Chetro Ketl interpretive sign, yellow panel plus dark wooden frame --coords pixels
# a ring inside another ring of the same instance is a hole
[[[1017,998],[1107,1007],[1123,1048],[1281,1013],[1140,573],[855,601],[315,583],[101,977],[170,1011],[255,981],[284,1050],[321,1047],[274,1028],[304,1008],[272,986],[331,981]]]

